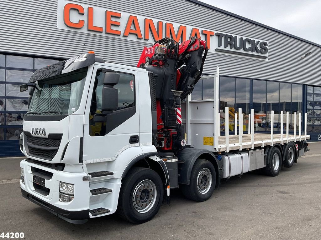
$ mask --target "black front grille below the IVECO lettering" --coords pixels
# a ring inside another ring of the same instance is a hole
[[[45,160],[51,161],[56,156],[62,134],[49,134],[48,138],[38,138],[30,134],[30,132],[24,132],[27,140],[26,150],[30,156],[39,157]]]

